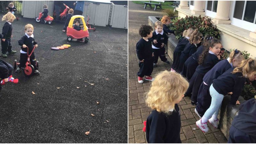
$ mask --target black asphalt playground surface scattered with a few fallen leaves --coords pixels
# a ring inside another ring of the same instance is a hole
[[[67,41],[64,23],[20,18],[12,23],[17,53],[0,59],[19,61],[18,40],[28,23],[35,28],[41,74],[13,70],[19,83],[2,86],[0,143],[127,143],[127,29],[95,26],[84,44]],[[71,47],[51,50],[63,44]]]

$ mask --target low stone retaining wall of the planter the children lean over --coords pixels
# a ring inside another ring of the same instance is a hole
[[[148,17],[148,25],[152,26],[154,29],[154,23],[157,21],[156,17],[149,16]],[[174,35],[167,35],[168,38],[168,44],[166,47],[167,54],[173,60],[173,52],[175,47],[177,46],[179,40],[176,39]],[[245,100],[243,97],[239,97],[238,100],[240,101],[240,104],[242,104]],[[230,95],[224,96],[222,105],[219,112],[219,128],[221,132],[225,135],[225,137],[228,139],[229,137],[229,129],[232,124],[232,121],[236,115],[238,115],[239,106],[232,106],[229,104],[230,101]]]

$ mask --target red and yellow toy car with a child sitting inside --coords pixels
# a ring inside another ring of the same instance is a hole
[[[76,30],[73,28],[73,22],[75,19],[81,19],[84,25],[83,30]],[[74,15],[71,17],[69,23],[68,23],[68,27],[67,27],[67,40],[68,42],[71,42],[72,39],[80,39],[80,38],[84,38],[84,43],[87,44],[89,41],[89,32],[88,29],[85,25],[85,21],[84,21],[84,16],[82,15]]]

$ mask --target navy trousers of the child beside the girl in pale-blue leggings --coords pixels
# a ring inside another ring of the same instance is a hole
[[[210,95],[210,86],[205,85],[204,82],[200,85],[198,95],[197,95],[196,110],[198,114],[203,117],[204,113],[208,108],[210,108],[212,102],[212,96]]]

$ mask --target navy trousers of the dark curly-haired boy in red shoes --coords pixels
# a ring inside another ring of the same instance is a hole
[[[154,68],[153,61],[154,61],[154,57],[148,60],[144,60],[144,62],[139,62],[140,70],[137,73],[137,75],[140,77],[150,76]]]

